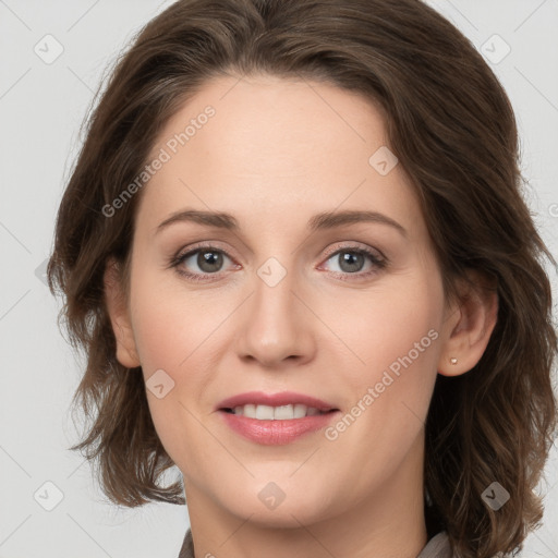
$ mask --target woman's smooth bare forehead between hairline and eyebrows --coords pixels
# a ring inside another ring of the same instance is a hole
[[[340,207],[417,228],[401,166],[387,174],[375,166],[387,143],[381,110],[357,93],[275,76],[214,78],[160,132],[150,157],[165,153],[166,161],[144,189],[140,216],[153,221],[187,206],[242,221],[257,210],[262,223],[282,227]]]

